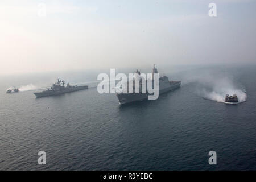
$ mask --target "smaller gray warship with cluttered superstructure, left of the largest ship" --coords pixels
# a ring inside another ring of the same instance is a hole
[[[65,84],[64,80],[61,80],[60,78],[58,78],[58,81],[52,84],[51,89],[43,90],[43,92],[34,92],[34,94],[36,97],[57,96],[63,93],[75,92],[78,90],[85,90],[85,89],[88,89],[88,85],[71,86],[68,83]]]

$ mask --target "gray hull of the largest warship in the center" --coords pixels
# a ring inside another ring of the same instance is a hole
[[[159,95],[170,92],[171,90],[180,87],[181,81],[170,81],[170,86],[164,89],[159,89]],[[119,104],[127,104],[134,101],[142,101],[148,99],[148,93],[116,93]]]

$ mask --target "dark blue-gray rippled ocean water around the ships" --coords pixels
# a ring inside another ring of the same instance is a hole
[[[256,67],[188,68],[169,73],[181,88],[120,106],[99,94],[97,75],[69,75],[88,90],[36,99],[52,77],[0,78],[0,169],[256,170]],[[10,86],[22,92],[6,94]],[[225,92],[240,104],[222,103]],[[243,98],[242,98],[243,97]],[[46,152],[46,165],[38,152]],[[217,152],[209,165],[208,152]]]

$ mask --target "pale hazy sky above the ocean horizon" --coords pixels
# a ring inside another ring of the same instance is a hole
[[[217,17],[208,15],[210,2]],[[0,74],[255,63],[255,7],[249,0],[1,0]]]

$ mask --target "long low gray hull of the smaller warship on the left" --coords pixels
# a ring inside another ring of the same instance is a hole
[[[43,92],[34,92],[35,96],[38,97],[47,97],[47,96],[58,96],[64,93],[75,92],[79,90],[88,89],[88,86],[76,86],[74,88],[64,89],[64,90],[46,90]]]

